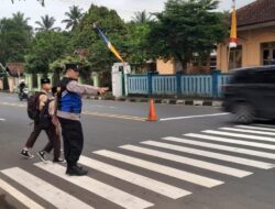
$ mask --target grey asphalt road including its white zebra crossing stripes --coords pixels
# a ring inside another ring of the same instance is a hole
[[[147,103],[85,100],[89,174],[67,177],[19,155],[32,131],[25,105],[0,94],[1,209],[274,209],[273,121],[235,127],[219,108],[156,105],[161,120],[147,122]]]

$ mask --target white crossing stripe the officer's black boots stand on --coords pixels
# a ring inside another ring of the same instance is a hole
[[[36,163],[34,164],[37,167],[56,175],[78,187],[81,187],[88,191],[91,191],[107,200],[114,202],[123,208],[128,209],[143,209],[154,206],[153,204],[145,201],[139,197],[130,195],[125,191],[117,189],[112,186],[103,184],[99,180],[87,176],[68,176],[65,174],[65,167],[57,165],[57,164],[44,164],[44,163]],[[70,207],[70,208],[81,208],[81,207]]]

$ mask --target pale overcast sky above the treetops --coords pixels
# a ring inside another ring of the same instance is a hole
[[[235,0],[237,8],[243,7],[255,0]],[[65,19],[65,12],[69,10],[72,6],[78,6],[85,12],[89,9],[90,4],[105,6],[109,9],[114,9],[119,15],[125,21],[130,21],[134,13],[138,11],[146,10],[147,12],[160,12],[164,9],[166,0],[45,0],[45,7],[36,0],[0,0],[0,19],[11,18],[12,13],[18,11],[25,14],[25,18],[30,18],[29,23],[35,26],[35,21],[40,21],[42,15],[48,14],[56,19],[56,25],[65,28],[62,24],[62,20]],[[230,10],[231,0],[220,0],[219,10]]]

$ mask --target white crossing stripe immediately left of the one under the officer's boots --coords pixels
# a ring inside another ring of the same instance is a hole
[[[42,180],[41,178],[37,178],[36,176],[19,167],[4,169],[1,170],[1,173],[26,187],[29,190],[51,202],[58,209],[92,209],[91,206],[88,206],[87,204],[80,201],[72,195],[58,189],[57,187],[46,183],[45,180]]]

